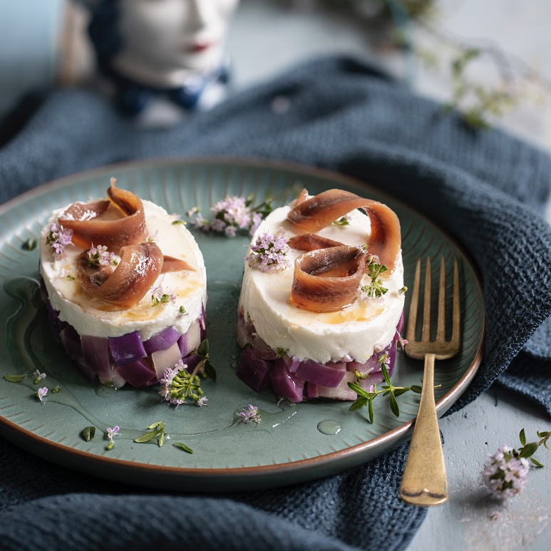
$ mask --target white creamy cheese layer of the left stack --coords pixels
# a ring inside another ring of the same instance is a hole
[[[185,225],[173,225],[174,217],[168,215],[163,207],[143,200],[148,236],[155,240],[163,254],[183,259],[197,271],[170,272],[160,274],[156,279],[152,289],[162,287],[163,293],[175,294],[174,302],[153,306],[150,290],[135,307],[123,309],[83,293],[82,279],[78,277],[76,267],[76,259],[83,249],[70,244],[65,249],[65,256],[56,260],[50,245],[46,244],[51,223],[57,222],[68,206],[53,212],[40,238],[40,272],[51,305],[59,311],[59,319],[67,321],[81,335],[122,336],[140,331],[141,339],[145,341],[168,326],[173,326],[180,334],[185,333],[200,316],[202,304],[207,301],[205,262]],[[75,279],[61,277],[63,269]],[[183,316],[180,307],[185,308]]]

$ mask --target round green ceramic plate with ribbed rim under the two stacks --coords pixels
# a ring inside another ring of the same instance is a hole
[[[386,398],[378,398],[375,422],[367,411],[349,411],[350,403],[277,404],[272,391],[254,393],[235,375],[240,356],[236,337],[236,307],[247,235],[228,239],[192,229],[205,256],[208,274],[207,331],[217,381],[203,383],[208,407],[160,403],[158,388],[118,391],[88,385],[73,369],[61,346],[51,338],[46,312],[37,299],[38,249],[22,244],[37,239],[51,210],[76,200],[103,197],[109,177],[120,187],[152,200],[168,212],[185,212],[198,205],[202,212],[230,195],[267,192],[280,196],[279,205],[293,198],[293,186],[318,193],[330,187],[386,202],[398,214],[403,235],[406,285],[413,285],[418,257],[446,257],[451,281],[453,257],[460,265],[463,345],[460,354],[436,364],[438,413],[443,414],[465,390],[480,363],[484,308],[480,284],[465,254],[444,232],[411,208],[366,185],[331,172],[264,161],[200,159],[116,165],[72,175],[17,197],[0,207],[0,323],[6,328],[0,376],[46,372],[41,382],[50,390],[40,403],[38,385],[28,376],[21,383],[0,379],[0,433],[32,453],[68,468],[157,488],[221,490],[260,488],[295,483],[336,473],[364,463],[408,437],[418,395],[398,398],[401,415],[393,416]],[[278,206],[279,206],[278,205]],[[439,262],[434,262],[433,282]],[[451,299],[448,289],[448,300]],[[406,308],[409,300],[406,299]],[[436,299],[433,300],[436,303]],[[450,323],[448,323],[450,326]],[[419,383],[423,365],[398,353],[393,383]],[[244,424],[236,411],[252,403],[262,422]],[[171,440],[135,443],[145,427],[165,421]],[[86,442],[81,431],[96,426],[96,438]],[[120,426],[115,447],[106,450],[107,426]],[[183,442],[193,454],[172,446]]]

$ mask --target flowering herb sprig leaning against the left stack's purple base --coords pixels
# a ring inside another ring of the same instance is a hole
[[[202,391],[199,376],[200,369],[205,367],[205,375],[210,379],[216,379],[216,370],[209,360],[209,341],[205,339],[201,342],[197,351],[201,361],[191,374],[187,372],[187,365],[182,359],[174,365],[174,369],[166,369],[163,379],[160,380],[160,395],[168,401],[175,404],[176,408],[182,403],[187,403],[185,398],[191,398],[197,406],[206,406],[208,398]]]

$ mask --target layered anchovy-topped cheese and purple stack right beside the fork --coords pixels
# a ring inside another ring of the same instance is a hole
[[[361,210],[359,210],[361,209]],[[393,373],[403,324],[400,224],[386,205],[304,190],[252,237],[238,307],[237,376],[292,401],[356,400]]]

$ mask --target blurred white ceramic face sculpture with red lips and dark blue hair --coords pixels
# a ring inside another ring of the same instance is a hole
[[[101,1],[89,33],[119,106],[138,113],[164,93],[193,108],[210,84],[227,81],[223,43],[238,1]]]

